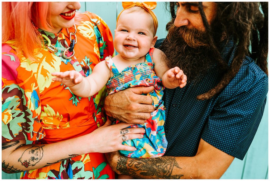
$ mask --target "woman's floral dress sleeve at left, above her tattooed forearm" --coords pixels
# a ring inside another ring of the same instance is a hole
[[[43,138],[40,111],[38,84],[27,60],[2,45],[2,143]]]

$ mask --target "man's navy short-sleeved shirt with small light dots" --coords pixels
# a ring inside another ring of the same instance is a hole
[[[230,64],[235,45],[230,41],[223,47],[222,58]],[[268,77],[246,56],[237,75],[220,94],[210,100],[196,99],[219,80],[213,69],[197,84],[165,89],[168,146],[164,156],[195,156],[202,138],[215,148],[244,159],[264,112]]]

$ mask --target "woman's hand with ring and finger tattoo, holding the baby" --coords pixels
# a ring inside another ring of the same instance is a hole
[[[120,122],[115,125],[111,125],[112,121],[107,120],[106,123],[88,134],[89,140],[86,144],[90,144],[90,152],[107,153],[118,150],[135,151],[133,146],[122,145],[123,139],[130,140],[136,138],[142,138],[145,133],[144,128],[126,128],[133,124]]]

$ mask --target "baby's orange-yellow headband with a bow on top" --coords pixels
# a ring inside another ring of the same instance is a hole
[[[155,28],[155,33],[157,32],[157,26],[158,26],[158,23],[157,23],[157,17],[156,15],[154,14],[153,11],[151,11],[152,9],[155,9],[156,6],[157,6],[157,2],[122,2],[122,6],[123,6],[123,10],[119,13],[119,15],[117,16],[117,19],[116,19],[116,24],[118,22],[118,19],[120,17],[120,14],[128,9],[128,8],[131,8],[133,6],[139,6],[143,9],[145,9],[147,12],[149,12],[149,14],[152,16],[153,18],[153,21],[154,21],[154,28]]]

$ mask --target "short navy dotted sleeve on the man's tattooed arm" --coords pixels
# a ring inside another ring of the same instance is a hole
[[[262,119],[268,77],[257,74],[244,82],[235,83],[233,79],[230,84],[215,103],[201,138],[243,160]]]

